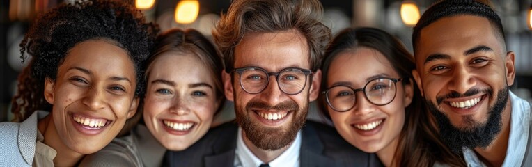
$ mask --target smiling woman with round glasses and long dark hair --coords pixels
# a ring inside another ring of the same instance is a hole
[[[322,113],[384,166],[463,166],[437,138],[412,77],[414,57],[380,29],[345,29],[322,63]]]

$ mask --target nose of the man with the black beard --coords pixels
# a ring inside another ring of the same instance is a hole
[[[466,67],[456,67],[453,77],[449,81],[448,89],[463,94],[475,85],[476,80]]]

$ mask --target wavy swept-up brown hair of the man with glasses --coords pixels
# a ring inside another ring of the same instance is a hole
[[[271,33],[295,29],[306,38],[311,70],[318,70],[331,30],[320,21],[323,7],[318,0],[235,0],[222,14],[214,42],[224,56],[226,72],[234,69],[235,47],[246,33]]]

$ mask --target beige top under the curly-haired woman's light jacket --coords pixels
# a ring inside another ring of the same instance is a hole
[[[37,129],[37,141],[35,145],[35,157],[33,157],[33,166],[54,166],[54,158],[56,157],[56,150],[45,143],[45,137]]]

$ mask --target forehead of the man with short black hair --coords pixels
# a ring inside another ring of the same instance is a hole
[[[422,63],[430,54],[462,55],[480,45],[496,53],[503,52],[503,44],[488,19],[472,15],[445,17],[421,30],[415,51],[416,63]]]

